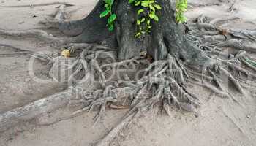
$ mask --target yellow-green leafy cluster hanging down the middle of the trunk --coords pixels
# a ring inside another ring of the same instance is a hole
[[[133,4],[138,9],[136,23],[138,28],[135,37],[139,38],[148,34],[152,28],[152,20],[159,21],[156,12],[161,9],[161,6],[156,4],[154,0],[129,0],[129,4]]]

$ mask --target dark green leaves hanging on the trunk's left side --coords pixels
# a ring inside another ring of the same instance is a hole
[[[114,30],[114,22],[116,20],[116,14],[112,13],[112,6],[114,3],[114,0],[104,0],[105,1],[105,11],[103,11],[100,14],[100,18],[108,18],[108,30],[113,31]]]

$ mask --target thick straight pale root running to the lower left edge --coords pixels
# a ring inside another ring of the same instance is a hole
[[[86,87],[88,90],[94,88],[92,78],[91,72],[87,72],[83,80],[80,80],[74,87],[0,114],[0,134],[19,123],[27,122],[43,113],[52,112],[66,106],[70,100],[76,98],[74,88]]]

